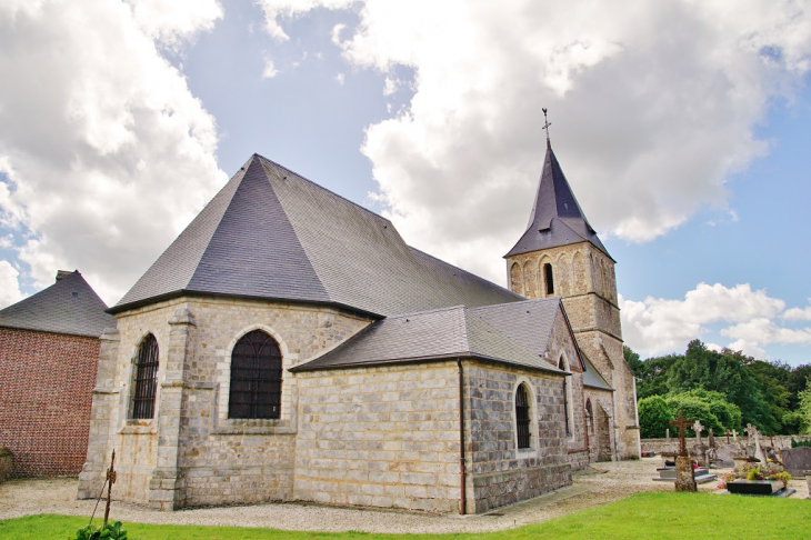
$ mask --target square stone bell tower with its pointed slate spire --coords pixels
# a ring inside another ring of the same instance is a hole
[[[617,261],[585,219],[549,138],[527,230],[504,259],[513,292],[562,299],[578,346],[614,389],[615,456],[639,458],[637,388],[622,353]]]

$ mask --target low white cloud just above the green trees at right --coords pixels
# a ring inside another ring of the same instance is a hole
[[[811,328],[784,328],[774,322],[797,308],[785,310],[783,300],[753,291],[749,283],[733,288],[699,283],[683,300],[649,297],[637,302],[622,296],[619,300],[628,346],[647,354],[683,350],[688,341],[708,333],[712,323],[728,324],[719,331],[733,340],[727,348],[757,358],[768,357],[770,343],[811,346]],[[719,350],[720,346],[711,348]]]

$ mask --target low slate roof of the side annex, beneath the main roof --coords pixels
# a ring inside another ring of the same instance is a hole
[[[553,304],[555,310],[560,302]],[[519,302],[527,311],[529,304],[538,301]],[[523,342],[497,329],[490,320],[504,322],[505,316],[514,316],[501,306],[491,308],[470,309],[463,306],[432,310],[422,313],[389,317],[373,322],[364,328],[346,343],[326,352],[319,358],[304,364],[292,368],[291,371],[314,371],[360,366],[381,366],[390,363],[422,362],[432,359],[478,358],[521,366],[558,374],[569,374],[543,359],[545,339],[525,339]],[[495,313],[488,313],[489,310]],[[534,307],[530,308],[534,312]],[[537,333],[548,337],[554,317],[548,317],[547,306],[540,306],[540,318],[528,320],[543,321],[548,327],[537,328]],[[543,350],[531,350],[524,343],[539,346]]]

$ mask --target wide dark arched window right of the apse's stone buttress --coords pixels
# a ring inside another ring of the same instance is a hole
[[[246,333],[231,352],[228,418],[270,418],[281,414],[281,350],[261,330]]]

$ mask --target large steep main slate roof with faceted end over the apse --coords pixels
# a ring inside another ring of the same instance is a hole
[[[109,312],[184,293],[379,317],[523,300],[410,248],[391,221],[257,154]]]

